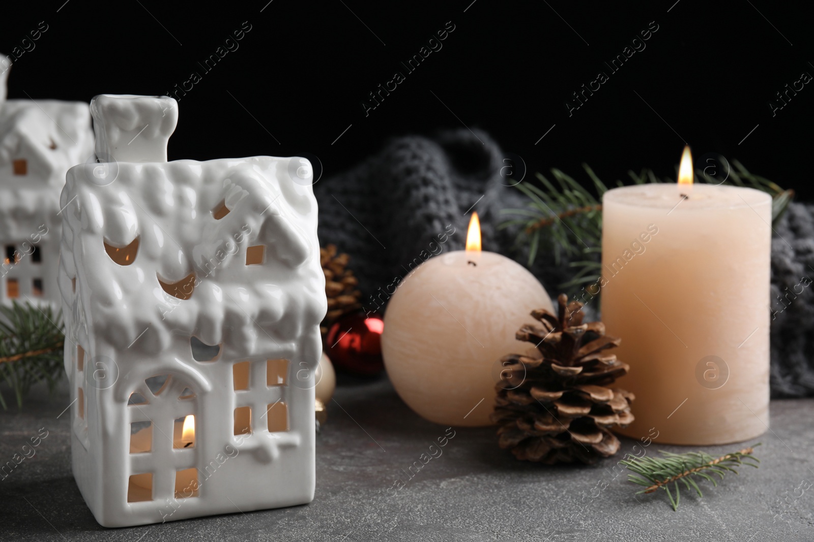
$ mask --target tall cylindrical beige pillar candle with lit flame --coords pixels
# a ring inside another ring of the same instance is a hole
[[[772,198],[691,184],[689,149],[679,182],[602,198],[602,320],[630,365],[619,387],[636,394],[621,432],[748,440],[768,428]]]

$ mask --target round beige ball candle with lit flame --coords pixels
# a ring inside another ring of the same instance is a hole
[[[540,282],[517,262],[477,249],[441,254],[407,275],[384,314],[387,375],[411,409],[448,426],[492,421],[500,359],[522,353],[514,339],[534,309],[554,310]]]

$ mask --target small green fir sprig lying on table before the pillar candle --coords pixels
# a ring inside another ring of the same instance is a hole
[[[628,475],[629,482],[645,486],[636,493],[637,495],[663,489],[667,492],[672,509],[675,510],[678,509],[681,501],[679,482],[684,483],[687,489],[694,490],[699,497],[702,497],[701,488],[698,487],[695,478],[706,479],[717,487],[718,482],[715,477],[719,476],[720,479],[724,479],[727,472],[737,475],[737,470],[734,469],[736,466],[748,465],[758,468],[757,463],[760,460],[752,453],[755,446],[759,445],[760,443],[721,457],[713,457],[704,452],[670,453],[659,450],[661,457],[632,457],[620,463],[628,467],[628,470],[637,473]],[[670,491],[671,484],[672,492]]]

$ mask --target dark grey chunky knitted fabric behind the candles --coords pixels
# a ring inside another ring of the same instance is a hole
[[[352,170],[314,185],[320,242],[351,255],[365,310],[383,312],[388,291],[414,267],[433,254],[462,249],[470,209],[478,211],[484,250],[526,261],[525,247],[514,249],[517,229],[497,228],[505,219],[501,209],[524,206],[510,188],[516,180],[501,176],[504,158],[480,131],[400,137]],[[775,229],[772,397],[814,395],[814,206],[791,204]],[[532,273],[555,296],[568,278],[567,263],[554,265],[544,252]]]

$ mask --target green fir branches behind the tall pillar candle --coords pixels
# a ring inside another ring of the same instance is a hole
[[[501,214],[514,218],[501,223],[500,228],[522,227],[516,241],[518,246],[527,245],[529,267],[541,249],[550,251],[557,264],[563,258],[571,260],[569,266],[575,268],[575,274],[571,280],[558,285],[568,291],[577,290],[584,284],[595,284],[602,268],[599,261],[602,252],[602,194],[607,192],[608,186],[587,164],[582,167],[593,183],[593,190],[586,189],[562,171],[552,169],[554,182],[537,173],[541,186],[533,183],[515,185],[528,197],[525,208],[501,210]],[[650,169],[643,169],[638,175],[628,171],[628,176],[632,184],[675,182],[668,177],[655,176]],[[721,184],[720,180],[707,175],[703,169],[697,169],[695,177],[698,182]],[[725,184],[745,186],[770,194],[772,226],[794,197],[794,190],[782,189],[771,180],[750,173],[737,160],[732,161]],[[617,180],[616,185],[623,186],[624,183]]]

